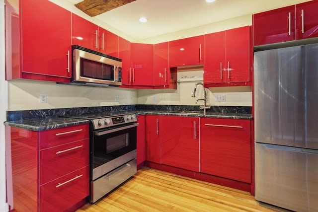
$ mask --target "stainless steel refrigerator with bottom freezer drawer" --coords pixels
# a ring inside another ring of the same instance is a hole
[[[318,44],[254,57],[255,198],[318,212]]]

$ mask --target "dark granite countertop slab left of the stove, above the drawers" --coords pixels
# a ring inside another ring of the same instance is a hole
[[[31,131],[43,131],[55,128],[70,127],[75,125],[87,124],[88,120],[72,119],[63,117],[52,117],[47,119],[26,119],[18,121],[4,122],[11,127],[22,128]]]

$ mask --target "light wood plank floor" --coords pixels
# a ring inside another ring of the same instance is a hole
[[[248,192],[144,167],[130,181],[77,212],[274,212]]]

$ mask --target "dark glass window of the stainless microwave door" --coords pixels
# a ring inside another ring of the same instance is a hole
[[[80,58],[80,75],[88,78],[114,80],[114,66]]]

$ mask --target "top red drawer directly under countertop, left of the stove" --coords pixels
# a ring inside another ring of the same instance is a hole
[[[40,149],[89,138],[89,125],[77,125],[40,132]]]

